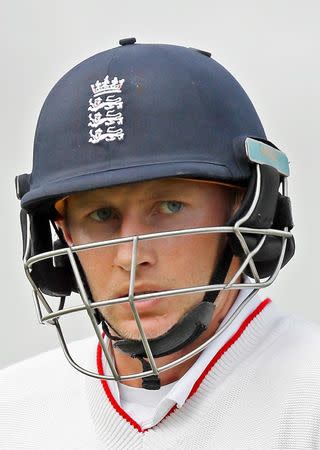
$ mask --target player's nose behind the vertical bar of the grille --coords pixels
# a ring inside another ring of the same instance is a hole
[[[143,226],[138,221],[128,218],[123,220],[121,226],[121,236],[139,236],[150,232],[148,227]],[[125,242],[116,246],[116,254],[114,257],[114,266],[130,272],[131,261],[133,255],[133,242]],[[152,240],[139,240],[137,242],[136,270],[142,267],[154,265],[156,262],[156,251]]]

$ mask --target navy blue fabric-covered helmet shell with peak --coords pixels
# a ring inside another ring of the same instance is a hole
[[[105,106],[94,111],[98,97]],[[113,117],[118,123],[108,128]],[[99,128],[109,135],[93,143]],[[246,136],[265,133],[247,94],[219,63],[175,45],[121,45],[75,66],[49,93],[22,207],[171,176],[245,184],[251,167],[234,142]]]

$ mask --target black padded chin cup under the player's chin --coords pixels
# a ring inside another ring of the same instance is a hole
[[[208,328],[215,305],[201,302],[177,322],[169,331],[155,339],[148,339],[154,358],[170,355],[193,342]],[[120,339],[114,347],[129,354],[132,358],[146,358],[146,352],[140,340]]]

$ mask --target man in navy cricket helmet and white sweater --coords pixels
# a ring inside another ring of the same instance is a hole
[[[258,295],[294,253],[288,176],[207,52],[129,38],[68,72],[17,194],[39,319],[89,376],[6,369],[1,448],[319,448],[319,329]]]

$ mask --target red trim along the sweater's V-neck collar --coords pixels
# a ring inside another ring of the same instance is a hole
[[[212,360],[209,362],[207,367],[204,369],[198,380],[193,385],[193,388],[190,391],[190,394],[188,395],[188,398],[192,397],[195,392],[199,389],[199,386],[201,385],[204,378],[207,376],[207,374],[210,372],[210,370],[213,368],[213,366],[219,361],[219,359],[222,357],[222,355],[239,339],[239,337],[242,335],[244,330],[247,328],[247,326],[250,324],[250,322],[269,304],[271,303],[271,300],[269,298],[265,299],[263,302],[260,303],[259,306],[251,313],[249,316],[242,322],[240,325],[238,331],[235,332],[233,336],[221,347],[221,349],[215,354],[215,356],[212,358]],[[98,344],[97,347],[97,368],[99,375],[104,375],[103,370],[103,364],[102,364],[102,349],[101,345]],[[133,426],[136,430],[138,430],[140,433],[144,433],[145,431],[148,431],[148,429],[144,430],[132,417],[127,414],[124,409],[121,408],[121,406],[118,404],[114,396],[112,395],[112,392],[108,386],[108,383],[106,380],[100,380],[102,387],[104,389],[104,392],[110,401],[111,405],[114,407],[114,409],[120,414],[121,417],[123,417],[127,422],[130,423],[131,426]],[[171,410],[168,412],[168,414],[164,417],[168,417],[170,414],[173,413],[173,411],[176,409],[176,405],[174,405]],[[163,420],[163,419],[162,419]]]

